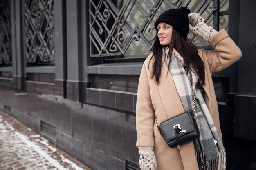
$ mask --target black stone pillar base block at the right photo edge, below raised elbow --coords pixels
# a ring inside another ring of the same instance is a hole
[[[256,97],[235,96],[234,136],[256,140]]]

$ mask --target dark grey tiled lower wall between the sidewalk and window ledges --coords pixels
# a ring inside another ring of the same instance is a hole
[[[0,108],[40,133],[40,121],[56,127],[56,146],[94,170],[124,170],[124,161],[138,162],[135,116],[53,94],[14,93],[0,86]]]

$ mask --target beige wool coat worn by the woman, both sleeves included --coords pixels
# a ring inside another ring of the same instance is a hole
[[[211,75],[239,60],[242,53],[224,29],[219,31],[209,41],[209,44],[215,51],[198,49],[198,54],[205,65],[204,99],[222,138]],[[150,57],[152,54],[145,60],[139,78],[136,104],[136,146],[153,146],[157,170],[198,170],[193,142],[181,146],[180,150],[171,149],[157,130],[155,116],[160,124],[166,119],[183,113],[184,108],[166,62],[161,69],[160,84],[157,85],[155,79],[150,78],[152,73],[152,60],[149,64]]]

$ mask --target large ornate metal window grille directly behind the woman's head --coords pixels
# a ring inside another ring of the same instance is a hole
[[[155,20],[163,11],[179,7],[200,13],[218,30],[219,0],[90,0],[90,57],[145,57],[155,37]],[[189,38],[211,49],[192,33]]]

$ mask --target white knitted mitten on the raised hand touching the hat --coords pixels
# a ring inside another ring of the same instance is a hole
[[[204,18],[200,16],[199,13],[189,13],[189,30],[200,37],[205,41],[209,42],[213,36],[218,33],[213,27],[205,24]]]

